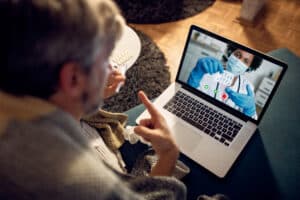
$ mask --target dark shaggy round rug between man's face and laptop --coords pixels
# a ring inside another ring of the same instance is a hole
[[[149,99],[159,96],[170,85],[170,71],[164,54],[144,33],[138,34],[142,49],[135,64],[126,72],[126,82],[120,91],[104,101],[103,109],[124,112],[140,104],[137,93],[143,90]]]

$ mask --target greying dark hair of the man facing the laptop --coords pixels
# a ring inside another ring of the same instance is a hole
[[[62,66],[88,73],[122,23],[111,0],[1,0],[0,90],[49,98]]]

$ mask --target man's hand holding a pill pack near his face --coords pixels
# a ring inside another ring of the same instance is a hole
[[[119,71],[111,69],[108,77],[106,88],[104,90],[104,98],[109,98],[116,93],[119,84],[124,84],[125,77]]]

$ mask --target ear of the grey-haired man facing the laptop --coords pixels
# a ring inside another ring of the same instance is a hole
[[[70,97],[80,97],[85,87],[86,76],[78,64],[66,63],[59,73],[59,88]]]

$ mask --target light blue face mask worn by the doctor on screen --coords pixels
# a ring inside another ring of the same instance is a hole
[[[226,69],[233,73],[235,76],[245,73],[248,66],[240,61],[235,55],[231,54],[228,58]]]

